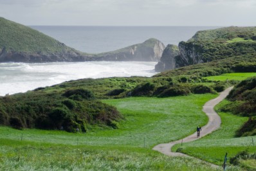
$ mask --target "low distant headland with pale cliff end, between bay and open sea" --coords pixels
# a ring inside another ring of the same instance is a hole
[[[95,60],[111,61],[159,61],[165,45],[157,39],[149,39],[142,44],[94,55]]]

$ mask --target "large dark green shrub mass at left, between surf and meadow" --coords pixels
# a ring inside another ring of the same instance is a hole
[[[42,91],[0,98],[0,124],[16,129],[64,129],[86,132],[91,125],[116,128],[121,116],[114,107],[94,100],[87,89]]]

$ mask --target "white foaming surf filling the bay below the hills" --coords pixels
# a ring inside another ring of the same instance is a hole
[[[0,96],[80,78],[152,76],[156,62],[0,63]]]

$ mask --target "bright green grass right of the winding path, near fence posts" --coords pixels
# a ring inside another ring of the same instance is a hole
[[[221,104],[225,102],[224,100]],[[215,109],[217,110],[221,104],[217,105]],[[220,129],[197,141],[183,143],[182,147],[181,145],[175,145],[172,151],[181,148],[179,149],[181,152],[217,165],[223,163],[226,152],[228,152],[228,159],[242,150],[248,149],[251,153],[256,152],[256,136],[235,138],[235,131],[237,131],[248,118],[228,113],[219,113],[219,115],[222,121]]]

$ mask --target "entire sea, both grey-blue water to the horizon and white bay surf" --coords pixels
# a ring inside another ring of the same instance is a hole
[[[124,48],[155,38],[165,45],[190,39],[202,26],[30,26],[87,53]],[[80,78],[152,76],[157,62],[0,63],[0,96],[23,93]]]

